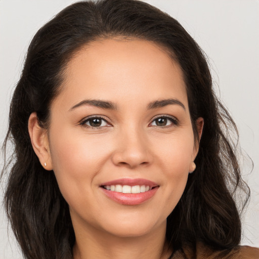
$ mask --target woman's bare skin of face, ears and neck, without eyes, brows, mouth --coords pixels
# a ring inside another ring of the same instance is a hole
[[[42,166],[54,170],[69,204],[74,258],[168,258],[166,218],[183,194],[198,152],[181,68],[152,42],[104,39],[78,51],[61,89],[48,130],[32,113],[29,133]],[[150,102],[168,98],[184,108],[147,109]],[[110,101],[117,109],[71,109],[86,99]],[[81,123],[93,115],[107,122],[95,128],[90,121]],[[177,122],[157,125],[155,119],[163,116]],[[202,126],[199,118],[199,136]],[[100,187],[121,178],[144,178],[159,188],[142,204],[123,205]]]

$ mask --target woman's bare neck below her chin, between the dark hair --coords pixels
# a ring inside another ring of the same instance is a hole
[[[146,235],[118,237],[88,226],[75,229],[73,259],[167,259],[166,223]]]

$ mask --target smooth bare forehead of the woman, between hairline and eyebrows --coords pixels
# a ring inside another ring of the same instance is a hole
[[[180,66],[162,47],[139,39],[102,39],[81,48],[66,67],[61,96],[71,102],[143,102],[168,97],[188,106]],[[72,105],[72,103],[71,103]]]

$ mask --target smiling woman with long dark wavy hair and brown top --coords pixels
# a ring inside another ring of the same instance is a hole
[[[175,19],[130,0],[64,9],[32,39],[10,109],[5,201],[25,258],[256,258],[238,246],[246,189],[224,123]]]

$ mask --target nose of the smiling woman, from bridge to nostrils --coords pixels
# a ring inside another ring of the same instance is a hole
[[[112,162],[115,165],[135,168],[150,164],[152,159],[150,144],[139,128],[135,130],[131,128],[119,133],[112,155]]]

